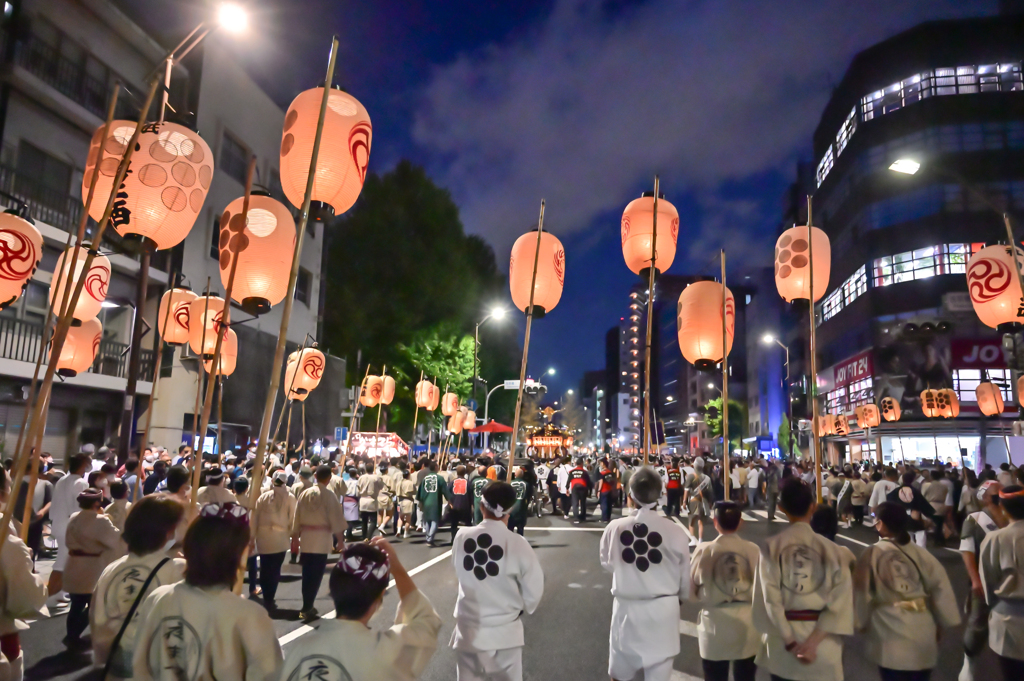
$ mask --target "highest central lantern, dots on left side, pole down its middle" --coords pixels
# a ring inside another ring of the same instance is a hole
[[[653,193],[634,199],[623,212],[623,257],[634,274],[647,275],[650,267],[650,238],[654,232]],[[679,239],[679,212],[663,197],[657,200],[657,241],[654,244],[654,270],[664,272],[676,259]]]

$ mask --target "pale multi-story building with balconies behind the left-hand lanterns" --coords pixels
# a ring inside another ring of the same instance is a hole
[[[16,439],[28,380],[47,308],[47,291],[57,255],[82,213],[81,187],[86,153],[102,125],[116,82],[123,84],[117,117],[135,120],[151,74],[162,70],[168,47],[151,38],[142,3],[117,5],[110,0],[12,0],[3,23],[3,78],[0,82],[0,203],[26,205],[44,236],[44,256],[25,295],[0,313],[0,442],[9,452]],[[129,16],[130,12],[132,16]],[[133,20],[134,19],[134,20]],[[249,156],[257,156],[256,183],[283,200],[278,159],[284,112],[218,45],[213,35],[175,67],[167,120],[197,129],[215,158],[209,193],[187,239],[159,252],[150,268],[141,313],[157,326],[157,305],[169,281],[180,272],[193,289],[223,292],[217,264],[217,222],[223,208],[243,194]],[[151,118],[159,113],[159,102]],[[105,197],[99,197],[102,201]],[[89,233],[95,228],[90,221]],[[319,305],[323,226],[311,224],[303,249],[288,338],[289,349],[315,333]],[[109,252],[112,276],[99,320],[103,339],[92,369],[55,386],[44,449],[56,456],[83,442],[112,441],[119,427],[128,372],[127,344],[136,305],[137,256],[121,253],[119,239],[108,230],[101,248]],[[233,321],[248,315],[241,310]],[[281,324],[275,308],[256,321],[234,327],[239,335],[239,371],[226,381],[225,433],[234,424],[233,442],[259,428],[269,366]],[[145,396],[152,390],[154,334],[143,338],[135,420],[144,424]],[[176,446],[191,429],[198,360],[187,347],[168,349],[162,368],[152,439]],[[343,363],[329,359],[324,394],[306,408],[310,436],[333,434]],[[331,377],[331,378],[328,378]],[[314,393],[315,394],[315,393]],[[215,421],[216,419],[214,419]],[[298,432],[298,431],[295,431]],[[138,440],[136,437],[135,441]]]

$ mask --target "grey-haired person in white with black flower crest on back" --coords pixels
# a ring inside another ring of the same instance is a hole
[[[637,510],[611,521],[601,536],[601,567],[611,572],[608,675],[668,681],[679,653],[679,603],[690,596],[689,540],[658,515],[662,478],[649,466],[630,480]]]

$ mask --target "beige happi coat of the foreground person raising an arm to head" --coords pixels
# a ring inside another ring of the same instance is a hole
[[[285,681],[414,681],[437,647],[441,619],[414,591],[398,603],[394,626],[375,631],[353,620],[323,620],[288,651]]]

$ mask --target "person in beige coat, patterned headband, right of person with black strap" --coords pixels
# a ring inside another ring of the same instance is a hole
[[[278,681],[284,662],[273,623],[239,596],[249,513],[204,506],[185,534],[185,579],[142,602],[132,658],[138,681]]]

